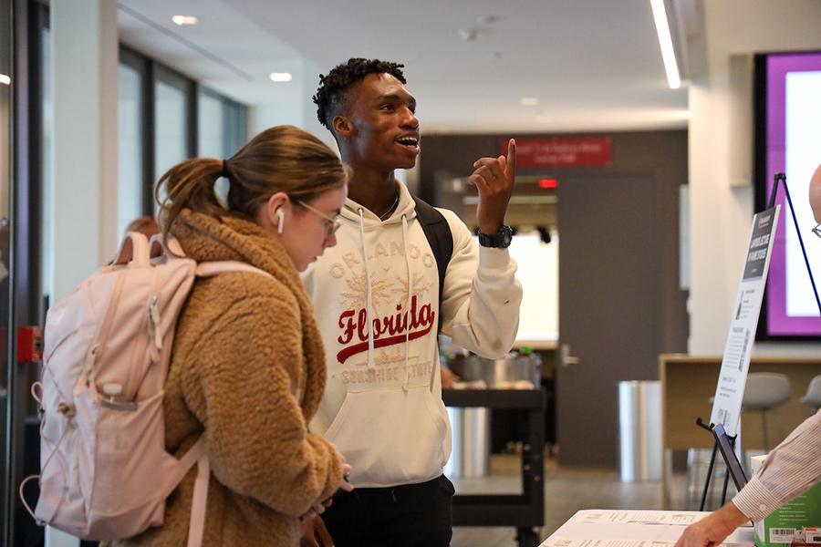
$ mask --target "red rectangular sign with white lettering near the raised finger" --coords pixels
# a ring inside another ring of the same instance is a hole
[[[525,138],[516,139],[518,167],[608,167],[609,137]],[[499,144],[500,153],[507,154],[507,139]]]

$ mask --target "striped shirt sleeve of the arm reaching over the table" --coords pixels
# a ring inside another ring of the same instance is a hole
[[[761,470],[733,498],[752,521],[761,521],[821,480],[821,410],[778,445]]]

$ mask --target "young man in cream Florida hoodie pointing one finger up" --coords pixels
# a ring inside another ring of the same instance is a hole
[[[500,357],[514,344],[522,300],[504,226],[513,140],[506,157],[473,164],[481,248],[453,212],[439,210],[452,234],[439,294],[436,255],[416,202],[393,174],[411,169],[420,152],[416,100],[401,67],[350,59],[320,77],[314,98],[353,171],[338,244],[304,276],[327,353],[325,397],[311,428],[345,455],[357,487],[323,514],[337,547],[449,544],[453,487],[442,467],[451,432],[439,374],[440,316],[455,344]],[[322,543],[314,531],[307,535],[305,544]]]

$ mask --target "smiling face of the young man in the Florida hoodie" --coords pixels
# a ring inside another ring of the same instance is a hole
[[[388,170],[411,169],[419,155],[416,99],[390,74],[369,74],[348,92],[351,151]]]

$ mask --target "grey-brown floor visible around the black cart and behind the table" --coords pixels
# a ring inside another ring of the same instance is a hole
[[[519,459],[494,456],[491,473],[482,479],[453,480],[457,493],[516,493],[520,490]],[[673,507],[684,508],[685,479],[673,480]],[[581,509],[661,509],[661,483],[621,482],[616,470],[560,469],[546,463],[544,540]],[[455,528],[451,547],[516,547],[513,528]]]

